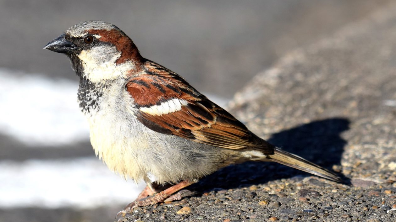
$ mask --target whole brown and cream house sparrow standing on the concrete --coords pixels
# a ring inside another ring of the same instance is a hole
[[[89,122],[95,154],[112,171],[147,183],[120,213],[180,199],[187,191],[179,191],[198,179],[251,160],[278,162],[341,181],[253,134],[183,77],[143,58],[113,24],[78,23],[44,49],[66,54],[80,77],[78,102]]]

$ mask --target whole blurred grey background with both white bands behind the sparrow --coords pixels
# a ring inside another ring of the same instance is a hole
[[[141,54],[219,105],[282,55],[390,0],[0,0],[0,221],[111,221],[143,189],[92,151],[69,60],[42,50],[86,20],[115,24]]]

